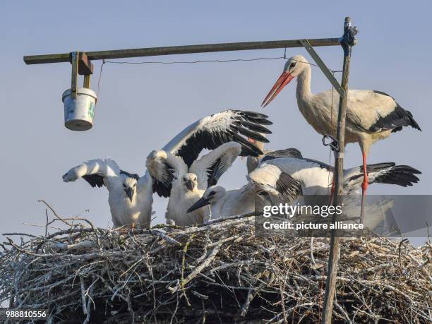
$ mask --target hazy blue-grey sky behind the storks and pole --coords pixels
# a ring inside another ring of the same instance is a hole
[[[73,8],[76,6],[76,12]],[[260,110],[260,102],[284,62],[142,65],[107,64],[101,78],[95,127],[73,133],[63,126],[61,94],[70,87],[69,64],[25,66],[23,55],[157,47],[212,42],[339,37],[345,16],[358,25],[350,88],[388,92],[410,110],[423,132],[395,134],[371,149],[369,162],[409,164],[424,174],[413,188],[371,186],[370,193],[431,194],[432,68],[428,1],[2,1],[0,4],[3,119],[0,128],[1,232],[22,231],[22,223],[43,223],[52,203],[61,215],[83,210],[98,226],[111,224],[107,192],[85,181],[64,184],[70,167],[96,157],[112,157],[130,172],[144,172],[145,157],[162,148],[196,119],[223,109]],[[342,49],[318,48],[330,68],[342,65]],[[282,49],[164,56],[130,61],[250,59],[281,56]],[[304,54],[288,49],[287,56]],[[97,89],[100,61],[91,88]],[[299,148],[306,157],[328,162],[321,137],[299,113],[294,85],[265,109],[274,121],[268,148]],[[313,69],[312,90],[330,88]],[[346,166],[361,164],[357,145],[347,146]],[[237,161],[221,184],[244,184],[244,161]],[[157,222],[166,200],[155,198]],[[37,232],[38,229],[29,228]]]

